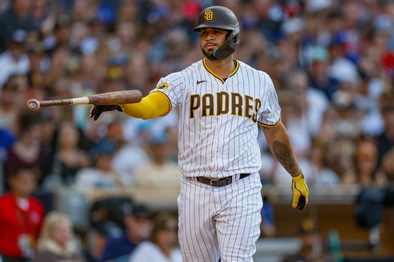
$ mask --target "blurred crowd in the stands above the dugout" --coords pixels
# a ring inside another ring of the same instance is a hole
[[[26,101],[148,94],[202,58],[191,30],[214,4],[240,21],[235,58],[272,78],[308,186],[390,186],[393,0],[0,0],[2,192],[27,176],[40,192],[179,186],[175,112],[93,121],[89,106],[29,112]],[[262,133],[259,144],[263,183],[289,185]]]

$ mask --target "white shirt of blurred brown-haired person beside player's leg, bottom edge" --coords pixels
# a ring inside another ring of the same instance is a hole
[[[167,258],[164,256],[160,248],[150,242],[145,241],[140,243],[131,254],[129,262],[182,262],[182,253],[178,248],[171,251],[171,256]]]

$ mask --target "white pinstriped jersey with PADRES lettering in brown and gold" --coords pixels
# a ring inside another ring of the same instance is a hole
[[[179,170],[212,178],[258,172],[258,124],[280,122],[272,80],[234,60],[235,70],[223,81],[204,59],[162,78],[151,91],[163,92],[177,110]]]

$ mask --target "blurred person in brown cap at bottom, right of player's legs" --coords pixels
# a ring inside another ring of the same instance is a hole
[[[293,255],[285,256],[282,262],[314,262],[325,261],[322,257],[322,242],[316,223],[310,219],[304,219],[299,228],[300,250]]]

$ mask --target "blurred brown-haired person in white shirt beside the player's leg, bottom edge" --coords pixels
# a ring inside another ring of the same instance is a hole
[[[171,213],[159,213],[153,220],[150,241],[140,243],[131,254],[130,262],[182,262],[178,246],[178,225]]]

